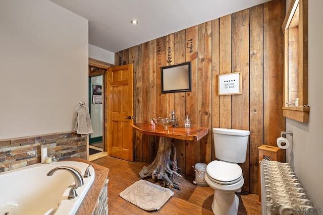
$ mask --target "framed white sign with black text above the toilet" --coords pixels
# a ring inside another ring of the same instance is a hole
[[[228,73],[218,76],[219,95],[242,94],[241,73]]]

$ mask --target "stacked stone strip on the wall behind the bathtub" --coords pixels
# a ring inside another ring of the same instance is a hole
[[[77,157],[86,160],[86,137],[67,132],[0,140],[0,172],[40,163],[40,146],[47,155],[60,160]]]

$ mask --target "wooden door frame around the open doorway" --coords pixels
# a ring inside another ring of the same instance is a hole
[[[107,98],[105,96],[105,91],[107,89],[107,70],[109,70],[110,67],[113,67],[113,64],[106,63],[103,61],[99,61],[96,59],[89,58],[89,78],[94,76],[100,76],[102,75],[102,81],[103,81],[103,90],[102,90],[102,105],[103,105],[103,126],[102,126],[102,141],[103,141],[103,152],[108,152],[107,147]],[[104,69],[105,71],[99,70],[99,71],[91,71],[90,66],[94,66],[97,68]],[[89,104],[90,105],[90,104]]]

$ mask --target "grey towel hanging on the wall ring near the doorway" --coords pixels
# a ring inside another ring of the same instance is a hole
[[[74,126],[74,131],[82,137],[93,133],[90,114],[88,111],[78,111]]]

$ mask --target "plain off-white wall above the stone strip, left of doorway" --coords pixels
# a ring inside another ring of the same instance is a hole
[[[0,139],[71,131],[88,103],[88,21],[47,0],[2,0]]]

